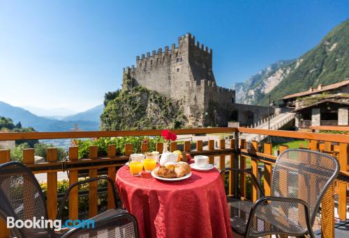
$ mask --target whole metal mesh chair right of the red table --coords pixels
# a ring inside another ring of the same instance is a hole
[[[248,173],[261,198],[251,203],[228,196],[232,230],[244,237],[290,235],[315,237],[312,226],[320,201],[339,174],[339,163],[312,150],[285,150],[276,159],[271,196],[264,196],[251,170],[224,168],[221,173]]]

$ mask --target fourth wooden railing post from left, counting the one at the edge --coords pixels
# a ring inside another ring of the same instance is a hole
[[[69,148],[69,161],[77,161],[79,158],[78,148],[70,147]],[[70,170],[69,171],[69,186],[78,181],[78,170]],[[69,193],[69,219],[77,220],[79,219],[79,196],[78,196],[78,188],[75,187],[71,189]]]

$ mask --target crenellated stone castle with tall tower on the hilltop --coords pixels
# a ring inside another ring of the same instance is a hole
[[[136,56],[136,65],[124,68],[123,88],[143,86],[183,105],[190,125],[227,125],[235,91],[216,86],[212,49],[195,42],[190,33],[163,51]]]

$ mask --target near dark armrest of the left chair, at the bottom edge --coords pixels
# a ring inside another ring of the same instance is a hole
[[[94,227],[92,227],[92,228],[91,227],[90,228],[84,228],[84,227],[72,228],[72,229],[68,230],[68,232],[66,232],[62,236],[62,238],[77,237],[77,236],[84,237],[84,235],[89,236],[90,233],[92,233],[91,235],[95,235],[98,233],[99,230],[103,231],[107,228],[116,228],[118,226],[121,226],[121,225],[119,225],[121,220],[130,221],[131,223],[133,223],[134,237],[138,238],[139,233],[138,233],[137,219],[135,219],[135,216],[133,216],[132,214],[130,214],[128,212],[116,214],[114,216],[110,216],[110,217],[107,217],[105,219],[95,221]]]

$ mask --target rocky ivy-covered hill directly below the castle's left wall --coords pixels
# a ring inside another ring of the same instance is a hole
[[[107,100],[101,115],[101,130],[161,129],[185,124],[181,104],[142,87],[116,93],[114,99]]]

